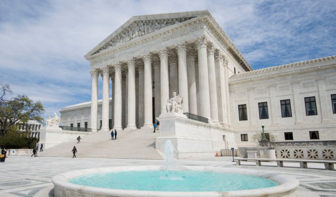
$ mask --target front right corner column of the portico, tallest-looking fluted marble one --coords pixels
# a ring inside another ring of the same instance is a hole
[[[198,45],[198,80],[199,80],[198,114],[202,117],[211,120],[207,39],[204,37],[198,38],[197,45]]]

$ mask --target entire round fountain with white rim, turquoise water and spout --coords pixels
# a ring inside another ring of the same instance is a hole
[[[62,173],[52,178],[54,196],[295,196],[299,182],[278,173],[178,166],[165,142],[163,166],[118,166]]]

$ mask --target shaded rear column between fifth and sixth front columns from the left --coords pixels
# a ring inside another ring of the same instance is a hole
[[[154,64],[154,106],[155,118],[161,114],[161,100],[160,100],[160,60],[157,56],[153,58]]]

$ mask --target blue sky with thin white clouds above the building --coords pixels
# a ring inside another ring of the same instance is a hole
[[[335,1],[1,0],[0,81],[52,116],[91,101],[83,56],[132,16],[208,10],[254,69],[336,55]],[[102,97],[99,79],[99,99]]]

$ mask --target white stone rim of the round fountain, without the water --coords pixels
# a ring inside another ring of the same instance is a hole
[[[147,191],[100,188],[70,183],[69,180],[96,173],[122,172],[122,171],[149,171],[164,170],[163,166],[118,166],[108,168],[92,168],[65,172],[52,178],[54,183],[54,196],[295,196],[299,185],[298,180],[278,173],[236,168],[181,166],[174,170],[208,171],[218,173],[236,173],[265,177],[278,183],[277,186],[234,190],[234,191]]]

